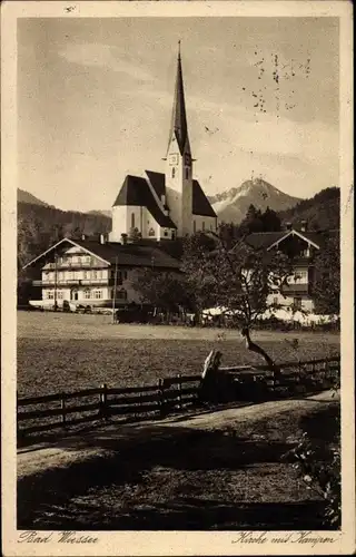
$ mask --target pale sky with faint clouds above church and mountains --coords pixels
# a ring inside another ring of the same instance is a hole
[[[251,177],[297,197],[339,185],[337,18],[23,18],[19,187],[109,209],[127,174],[164,172],[178,40],[207,195]]]

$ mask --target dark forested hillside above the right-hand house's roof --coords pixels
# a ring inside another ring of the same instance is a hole
[[[281,211],[283,223],[299,226],[307,221],[309,229],[334,229],[340,226],[340,190],[338,187],[322,189],[310,199],[303,199],[294,207]]]

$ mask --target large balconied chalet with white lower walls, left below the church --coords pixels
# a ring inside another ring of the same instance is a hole
[[[62,307],[67,301],[72,310],[141,303],[132,284],[142,268],[179,273],[179,262],[155,246],[70,238],[61,240],[27,267],[39,274],[32,282],[37,291],[32,306]]]

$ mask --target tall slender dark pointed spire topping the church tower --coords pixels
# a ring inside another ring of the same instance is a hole
[[[180,154],[182,154],[188,137],[188,126],[181,70],[180,40],[178,41],[177,77],[169,141],[171,140],[174,134],[176,135]]]

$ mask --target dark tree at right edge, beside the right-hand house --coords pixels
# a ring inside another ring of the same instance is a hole
[[[340,312],[339,234],[328,234],[315,258],[313,299],[317,313],[338,315]]]

